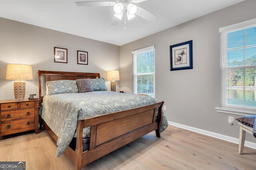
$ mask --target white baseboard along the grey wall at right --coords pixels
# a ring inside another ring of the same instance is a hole
[[[207,136],[210,136],[210,137],[215,137],[215,138],[218,138],[218,139],[222,139],[224,141],[228,141],[228,142],[231,142],[231,143],[239,144],[239,139],[234,138],[234,137],[230,137],[230,136],[222,135],[222,134],[219,134],[219,133],[206,131],[206,130],[203,130],[203,129],[198,129],[198,128],[187,126],[187,125],[182,125],[180,123],[175,123],[175,122],[172,122],[172,121],[168,121],[168,124],[172,125],[172,126],[180,127],[182,129],[186,129],[186,130],[189,130],[189,131],[193,131],[193,132],[196,132],[196,133],[200,133],[200,134],[203,134],[203,135],[207,135]],[[237,132],[237,133],[239,133],[239,132]],[[244,146],[248,147],[248,148],[256,149],[256,143],[253,143],[253,142],[245,141]]]

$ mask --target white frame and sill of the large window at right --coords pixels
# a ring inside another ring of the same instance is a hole
[[[224,51],[229,51],[230,49],[227,48],[227,45],[224,44],[224,40],[227,40],[227,33],[236,31],[239,29],[246,29],[249,27],[254,27],[256,26],[256,19],[253,20],[248,20],[244,21],[241,23],[229,25],[226,27],[222,27],[219,29],[220,32],[220,107],[216,107],[217,112],[221,113],[230,113],[230,114],[235,114],[235,115],[252,115],[255,114],[256,107],[249,107],[249,106],[234,106],[234,105],[228,105],[226,104],[226,91],[228,87],[225,85],[226,84],[226,72],[223,70],[228,70],[228,69],[237,69],[237,68],[256,68],[255,65],[243,65],[243,66],[225,66],[224,61],[227,62],[227,53],[224,53]],[[245,37],[244,37],[245,38]],[[244,40],[245,43],[245,40]],[[256,45],[253,45],[256,46]],[[226,47],[226,49],[225,49]],[[250,47],[250,46],[249,46]],[[244,44],[243,47],[239,48],[234,48],[234,49],[245,49],[246,45]],[[226,59],[226,60],[225,60]],[[224,78],[223,78],[224,77]],[[244,77],[245,78],[245,77]],[[224,89],[225,88],[225,89]],[[244,90],[246,89],[246,86],[241,86]],[[224,90],[224,92],[222,91]],[[245,96],[244,96],[245,100]],[[223,104],[224,103],[224,104]],[[224,105],[224,106],[222,106]]]

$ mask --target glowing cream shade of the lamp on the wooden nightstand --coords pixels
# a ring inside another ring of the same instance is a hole
[[[7,64],[6,80],[33,80],[32,66]]]

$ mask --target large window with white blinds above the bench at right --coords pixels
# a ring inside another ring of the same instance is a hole
[[[256,111],[256,20],[220,28],[220,107]]]

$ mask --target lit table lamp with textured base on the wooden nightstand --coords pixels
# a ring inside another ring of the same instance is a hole
[[[26,82],[22,80],[33,80],[32,66],[25,64],[7,64],[6,80],[18,80],[14,82],[15,100],[24,100]]]

